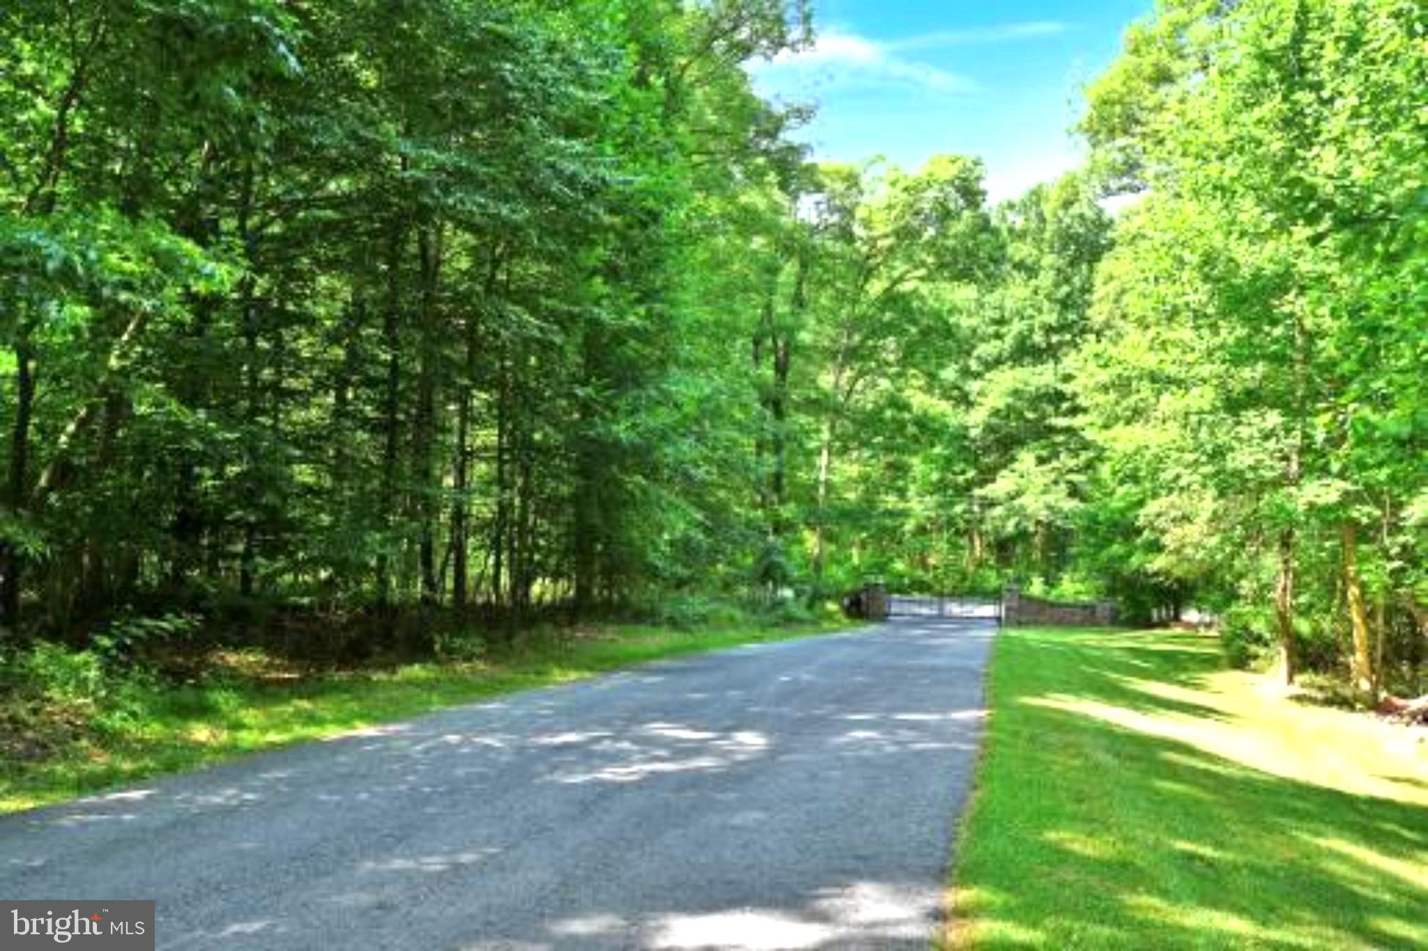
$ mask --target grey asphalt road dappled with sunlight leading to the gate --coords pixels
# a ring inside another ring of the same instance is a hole
[[[918,948],[994,627],[902,620],[0,818],[0,898],[153,898],[160,948]]]

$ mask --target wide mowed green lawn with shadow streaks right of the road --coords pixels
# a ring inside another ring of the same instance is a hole
[[[1428,739],[1210,636],[1007,629],[952,948],[1428,948]]]

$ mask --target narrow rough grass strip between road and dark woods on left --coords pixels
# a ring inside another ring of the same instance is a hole
[[[47,744],[41,754],[0,756],[0,814],[660,657],[851,626],[841,619],[694,632],[618,626],[584,636],[531,637],[520,649],[466,663],[317,674],[284,669],[261,656],[228,654],[216,659],[200,684],[123,684],[94,701],[44,710],[51,731],[56,717],[86,727],[71,730],[63,743]],[[4,724],[0,719],[0,727]]]

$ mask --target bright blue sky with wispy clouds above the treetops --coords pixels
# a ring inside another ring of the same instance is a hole
[[[755,88],[815,101],[821,160],[987,161],[994,201],[1077,164],[1080,90],[1151,0],[814,0],[818,43],[751,66]]]

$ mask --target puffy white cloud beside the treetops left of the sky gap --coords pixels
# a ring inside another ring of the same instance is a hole
[[[828,86],[907,84],[935,93],[968,93],[971,80],[928,63],[894,54],[894,46],[855,33],[830,31],[808,50],[784,51],[773,60],[750,64],[765,91],[807,94]]]

